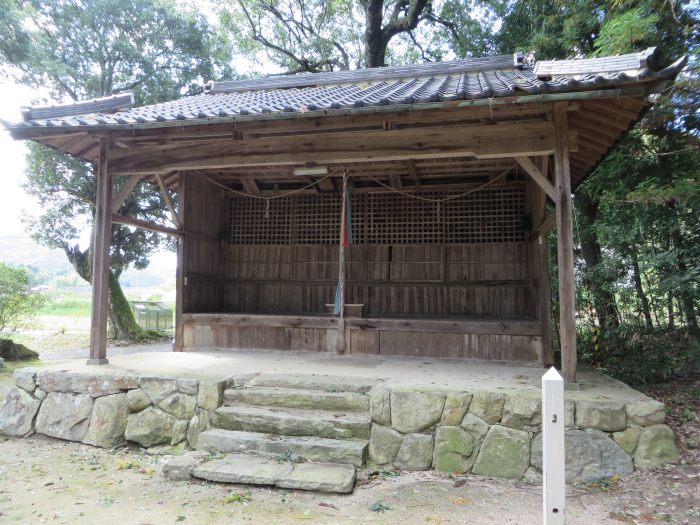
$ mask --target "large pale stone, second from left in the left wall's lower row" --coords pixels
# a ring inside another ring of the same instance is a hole
[[[88,394],[49,392],[36,417],[36,431],[67,441],[82,441],[90,424],[93,403]]]

